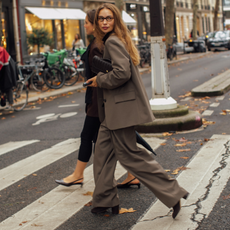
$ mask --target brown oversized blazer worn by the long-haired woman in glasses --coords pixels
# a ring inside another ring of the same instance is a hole
[[[103,58],[111,60],[113,70],[98,73],[98,113],[110,130],[148,123],[155,118],[139,70],[123,42],[110,35]]]

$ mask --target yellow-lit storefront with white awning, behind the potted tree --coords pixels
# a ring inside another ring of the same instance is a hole
[[[45,28],[53,36],[52,45],[42,47],[41,52],[52,51],[52,49],[71,49],[75,34],[85,36],[84,17],[81,19],[62,18],[66,12],[63,11],[59,15],[55,15],[52,11],[53,9],[83,10],[83,1],[19,0],[19,24],[23,60],[38,52],[36,46],[32,47],[27,43],[26,36],[32,32],[33,28]],[[71,11],[69,12],[71,13]]]

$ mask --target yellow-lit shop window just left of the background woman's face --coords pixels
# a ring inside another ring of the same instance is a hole
[[[63,23],[66,49],[71,50],[75,35],[80,34],[79,20],[63,20]]]

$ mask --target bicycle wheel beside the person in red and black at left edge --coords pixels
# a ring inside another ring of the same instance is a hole
[[[18,81],[13,89],[13,105],[14,111],[21,111],[25,108],[28,102],[28,87],[23,81]]]

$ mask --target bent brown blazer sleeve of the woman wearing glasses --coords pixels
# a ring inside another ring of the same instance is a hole
[[[107,39],[105,50],[110,56],[113,70],[106,74],[99,73],[97,84],[100,88],[115,89],[131,78],[130,56],[122,41],[115,36]]]

